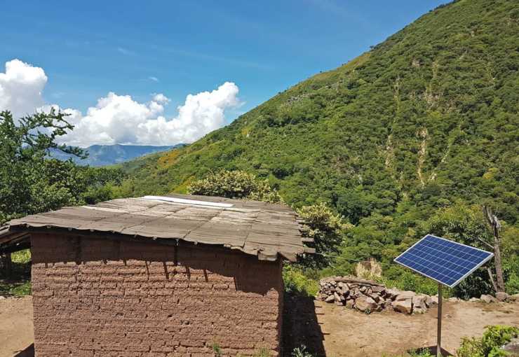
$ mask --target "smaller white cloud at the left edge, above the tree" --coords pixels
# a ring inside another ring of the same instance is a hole
[[[6,72],[0,73],[0,110],[9,109],[15,118],[34,113],[44,104],[46,83],[43,69],[19,59],[6,62]]]

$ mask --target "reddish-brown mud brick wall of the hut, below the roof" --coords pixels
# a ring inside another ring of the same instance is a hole
[[[43,356],[278,356],[281,262],[224,248],[32,235]]]

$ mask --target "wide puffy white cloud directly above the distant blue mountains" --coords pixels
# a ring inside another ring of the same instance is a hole
[[[65,109],[75,128],[60,141],[74,146],[190,143],[224,125],[224,111],[239,104],[237,95],[238,87],[229,82],[212,92],[189,94],[178,106],[178,115],[168,120],[163,111],[170,99],[164,94],[139,103],[129,95],[110,92],[90,107],[86,116]]]

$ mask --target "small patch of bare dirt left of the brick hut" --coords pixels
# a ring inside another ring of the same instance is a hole
[[[0,300],[0,357],[12,357],[34,341],[32,297]]]

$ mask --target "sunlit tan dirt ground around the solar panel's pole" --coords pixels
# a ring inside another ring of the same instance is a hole
[[[422,315],[393,311],[365,315],[335,304],[319,305],[322,307],[317,310],[323,314],[318,315],[318,321],[328,357],[392,356],[436,345],[436,307]],[[444,302],[442,324],[442,346],[454,353],[461,337],[480,337],[486,325],[519,326],[519,302]]]

